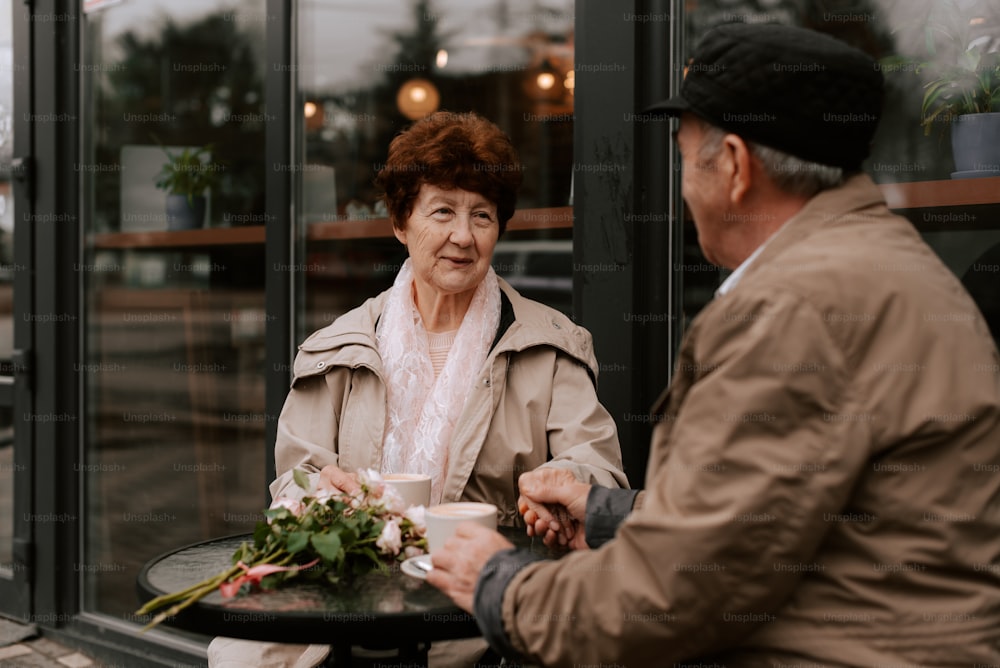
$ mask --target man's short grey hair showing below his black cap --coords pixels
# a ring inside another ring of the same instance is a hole
[[[722,139],[729,132],[711,123],[694,117],[701,124],[704,142],[698,152],[701,161],[712,161],[722,149]],[[782,191],[790,195],[812,197],[818,192],[836,188],[844,182],[844,170],[831,165],[821,165],[789,155],[784,151],[744,140],[750,153],[760,160],[768,178]]]

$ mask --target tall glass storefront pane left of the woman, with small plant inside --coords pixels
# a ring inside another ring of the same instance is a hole
[[[144,562],[266,502],[265,28],[263,0],[84,15],[87,610],[131,619]]]

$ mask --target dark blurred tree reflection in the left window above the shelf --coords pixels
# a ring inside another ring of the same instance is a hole
[[[127,144],[213,144],[227,164],[213,192],[214,224],[255,219],[247,214],[262,220],[264,211],[264,35],[235,16],[220,11],[183,23],[161,17],[104,44],[114,55],[88,67],[94,161],[118,163]],[[110,229],[119,225],[120,176],[94,175],[94,210]]]

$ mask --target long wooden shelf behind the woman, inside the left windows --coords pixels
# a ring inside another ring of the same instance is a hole
[[[525,209],[514,213],[508,230],[548,230],[573,227],[573,207]],[[306,228],[308,241],[342,239],[378,239],[392,236],[388,218],[339,220],[311,223]],[[93,237],[94,247],[106,248],[186,248],[230,244],[263,244],[264,226],[211,227],[202,230],[157,230],[149,232],[111,232]]]

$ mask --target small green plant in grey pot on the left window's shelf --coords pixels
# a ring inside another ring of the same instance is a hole
[[[222,166],[211,160],[212,145],[170,152],[156,180],[167,191],[167,228],[190,230],[205,221],[205,191],[219,182]]]

